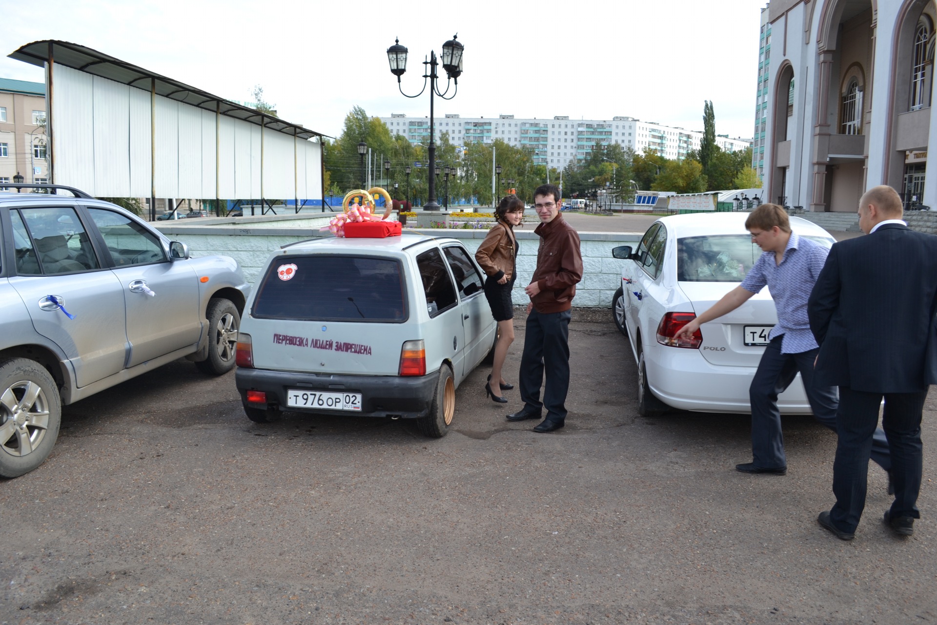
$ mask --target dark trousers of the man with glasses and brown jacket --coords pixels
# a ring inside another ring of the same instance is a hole
[[[559,424],[566,419],[566,394],[570,390],[571,316],[569,310],[549,314],[539,313],[536,308],[530,311],[518,374],[524,409],[540,413],[545,407],[546,418]]]

